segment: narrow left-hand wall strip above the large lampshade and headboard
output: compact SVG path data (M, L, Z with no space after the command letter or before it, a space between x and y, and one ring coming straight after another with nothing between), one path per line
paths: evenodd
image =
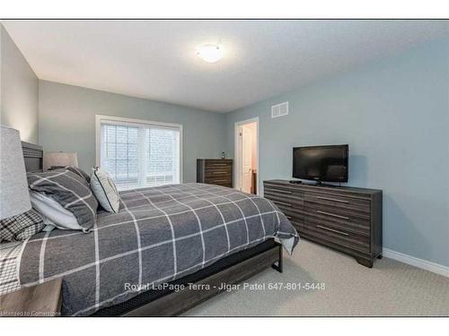
M3 25L1 30L0 124L20 131L22 141L39 142L39 80Z

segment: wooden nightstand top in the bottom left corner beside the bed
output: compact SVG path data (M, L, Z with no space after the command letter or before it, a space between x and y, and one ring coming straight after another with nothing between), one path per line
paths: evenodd
M62 279L23 287L0 297L0 316L59 316L61 314Z

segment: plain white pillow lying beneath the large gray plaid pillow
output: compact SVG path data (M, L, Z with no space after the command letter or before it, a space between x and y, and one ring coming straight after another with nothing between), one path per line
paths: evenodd
M32 207L42 215L44 224L62 229L84 229L78 224L72 212L66 210L60 203L48 195L31 192L30 200Z

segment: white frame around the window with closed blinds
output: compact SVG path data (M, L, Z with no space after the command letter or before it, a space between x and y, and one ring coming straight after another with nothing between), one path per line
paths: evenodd
M163 123L159 121L151 121L144 119L134 119L134 118L126 118L121 116L104 116L104 115L95 115L95 162L96 166L100 167L101 165L101 123L109 123L112 125L153 125L156 127L167 127L167 128L178 128L180 130L180 183L183 183L183 146L182 146L182 124L171 124L171 123Z

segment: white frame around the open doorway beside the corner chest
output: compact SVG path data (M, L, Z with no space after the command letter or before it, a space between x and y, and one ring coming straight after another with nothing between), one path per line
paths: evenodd
M233 171L235 174L233 175L233 185L234 189L240 190L242 187L242 146L240 143L240 134L239 128L242 125L256 123L256 161L257 161L257 177L256 177L256 188L257 194L260 194L260 164L259 164L259 116L245 119L242 121L237 121L233 124Z

